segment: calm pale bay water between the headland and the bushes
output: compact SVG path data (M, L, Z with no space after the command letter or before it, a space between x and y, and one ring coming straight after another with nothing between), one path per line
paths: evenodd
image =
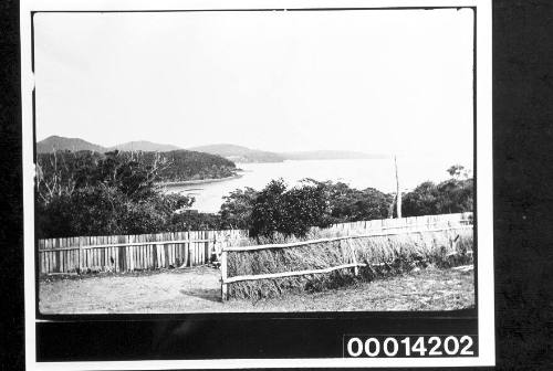
M410 190L426 180L445 180L449 177L446 169L453 163L458 161L444 158L400 159L398 160L400 187ZM390 159L288 160L275 163L237 163L237 167L243 170L241 178L204 184L175 186L168 191L194 195L196 202L192 209L217 212L223 201L222 197L231 191L246 187L260 190L269 181L278 178L283 178L290 186L296 184L301 179L313 178L321 181L342 181L357 189L372 187L383 192L393 192L396 187L394 161Z

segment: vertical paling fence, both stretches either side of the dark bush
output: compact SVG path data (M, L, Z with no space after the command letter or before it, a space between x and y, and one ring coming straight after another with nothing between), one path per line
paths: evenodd
M334 224L325 231L331 234L346 231L351 234L361 234L386 229L410 231L421 227L466 225L471 223L471 218L472 213L458 213L384 219ZM320 230L319 227L311 229L312 232ZM234 245L243 239L248 239L248 231L186 231L142 235L46 239L39 240L40 262L38 264L41 274L191 267L209 263L211 252L221 254L225 246ZM171 243L173 241L176 243ZM90 247L94 245L101 246ZM352 246L348 248L352 250ZM355 251L352 250L348 255L355 263Z

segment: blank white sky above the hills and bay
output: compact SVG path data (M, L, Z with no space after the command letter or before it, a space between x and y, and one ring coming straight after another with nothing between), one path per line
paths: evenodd
M471 10L38 13L36 137L472 157Z

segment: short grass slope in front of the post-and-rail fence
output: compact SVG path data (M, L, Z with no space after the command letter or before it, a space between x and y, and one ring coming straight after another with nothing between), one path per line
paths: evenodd
M425 269L321 292L284 293L259 300L232 299L230 308L247 311L422 311L474 308L473 272Z

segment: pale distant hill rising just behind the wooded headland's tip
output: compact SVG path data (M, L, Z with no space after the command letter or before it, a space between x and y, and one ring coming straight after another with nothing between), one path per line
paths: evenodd
M279 153L228 144L194 147L189 150L219 155L233 162L282 162L285 160Z

